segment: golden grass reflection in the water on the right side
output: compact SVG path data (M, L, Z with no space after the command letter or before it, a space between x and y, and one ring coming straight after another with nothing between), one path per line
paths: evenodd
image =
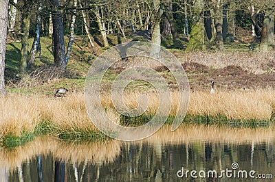
M148 142L183 144L192 142L221 142L243 144L247 142L270 142L275 140L274 127L227 127L224 125L183 124L175 131L164 125L146 139Z

